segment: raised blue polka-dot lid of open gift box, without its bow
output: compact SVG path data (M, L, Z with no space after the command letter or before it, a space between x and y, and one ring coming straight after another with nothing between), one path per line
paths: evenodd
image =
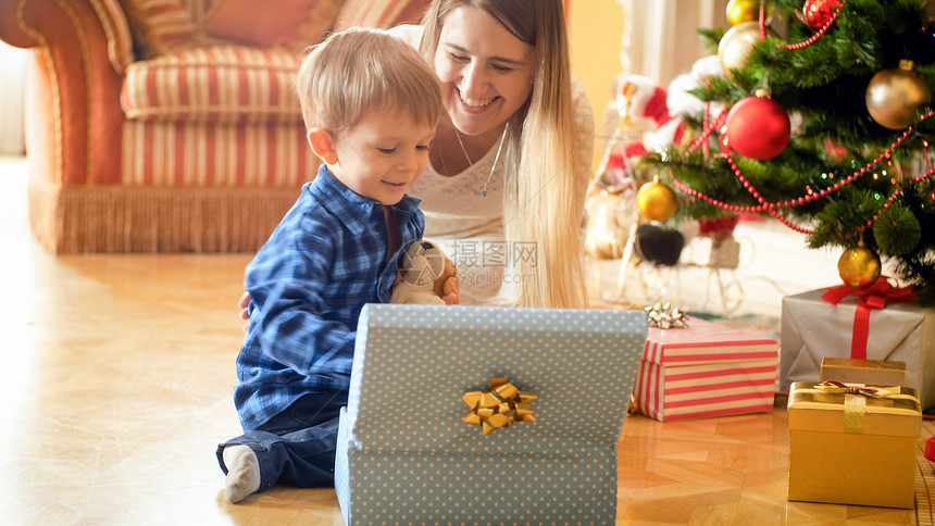
M354 349L350 446L369 451L579 454L615 447L646 340L643 311L367 304ZM503 377L535 422L485 436L465 393Z

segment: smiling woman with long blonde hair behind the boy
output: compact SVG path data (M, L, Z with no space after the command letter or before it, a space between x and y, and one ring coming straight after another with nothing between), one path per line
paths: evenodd
M562 2L436 0L423 27L392 33L442 83L447 113L411 193L460 268L462 303L584 306L594 114Z

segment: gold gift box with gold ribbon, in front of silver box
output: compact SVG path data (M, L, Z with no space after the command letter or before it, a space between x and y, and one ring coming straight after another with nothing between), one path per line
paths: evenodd
M914 508L918 392L872 398L818 386L791 385L789 500Z

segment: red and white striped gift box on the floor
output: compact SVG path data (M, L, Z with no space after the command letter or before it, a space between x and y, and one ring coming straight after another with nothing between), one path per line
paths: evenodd
M650 327L636 376L640 413L661 422L773 409L778 341L696 317Z

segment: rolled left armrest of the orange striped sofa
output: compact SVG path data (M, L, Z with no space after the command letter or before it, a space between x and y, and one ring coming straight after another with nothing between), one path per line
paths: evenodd
M120 89L133 55L115 0L0 0L0 39L35 49L26 149L41 168L32 175L120 183Z

